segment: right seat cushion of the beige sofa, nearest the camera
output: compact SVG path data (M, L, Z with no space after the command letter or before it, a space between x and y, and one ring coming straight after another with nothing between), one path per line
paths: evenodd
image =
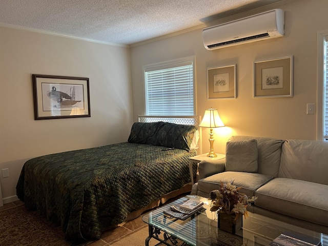
M275 178L260 187L255 206L328 226L327 186L297 179Z

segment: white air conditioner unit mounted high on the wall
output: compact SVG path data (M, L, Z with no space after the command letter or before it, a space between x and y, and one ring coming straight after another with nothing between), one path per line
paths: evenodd
M284 35L284 11L274 9L205 28L202 34L208 50L281 37Z

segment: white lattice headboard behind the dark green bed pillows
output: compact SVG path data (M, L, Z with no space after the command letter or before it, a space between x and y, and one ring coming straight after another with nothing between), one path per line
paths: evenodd
M164 121L180 125L196 126L200 124L200 115L193 116L153 116L153 115L139 115L139 122L157 122Z

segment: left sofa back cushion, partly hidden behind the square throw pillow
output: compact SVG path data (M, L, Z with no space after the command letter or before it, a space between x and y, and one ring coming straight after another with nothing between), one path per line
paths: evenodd
M232 136L231 141L256 139L257 173L278 177L281 145L284 140L270 137Z

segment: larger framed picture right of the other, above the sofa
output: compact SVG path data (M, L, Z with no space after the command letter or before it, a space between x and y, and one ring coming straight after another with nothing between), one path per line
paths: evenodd
M253 97L293 97L293 56L254 62Z

